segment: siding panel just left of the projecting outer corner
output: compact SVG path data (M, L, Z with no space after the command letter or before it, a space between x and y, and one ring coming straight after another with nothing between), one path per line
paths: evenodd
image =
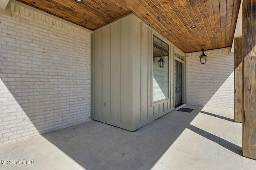
M129 18L121 20L121 123L130 125Z

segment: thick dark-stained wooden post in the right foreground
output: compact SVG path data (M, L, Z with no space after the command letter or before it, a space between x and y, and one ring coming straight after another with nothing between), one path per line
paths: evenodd
M243 1L243 156L256 159L256 0Z

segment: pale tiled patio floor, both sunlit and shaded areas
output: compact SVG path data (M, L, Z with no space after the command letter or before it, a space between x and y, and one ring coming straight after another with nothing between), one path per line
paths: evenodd
M135 132L89 121L0 147L0 169L31 170L252 170L256 160L242 157L242 124L233 111L186 106Z

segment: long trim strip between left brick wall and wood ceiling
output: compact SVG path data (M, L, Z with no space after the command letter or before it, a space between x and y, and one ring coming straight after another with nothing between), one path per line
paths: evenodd
M2 0L0 0L0 1L2 1ZM80 25L76 25L76 24L74 24L74 23L72 23L72 22L70 22L70 21L63 20L62 18L58 18L58 17L56 17L56 16L54 16L54 15L52 15L52 14L48 14L47 12L43 12L43 11L41 11L41 10L38 10L38 9L36 9L36 8L33 8L33 7L31 7L31 6L28 6L28 5L26 5L26 4L23 4L23 3L21 3L21 2L18 2L18 1L16 1L16 0L11 0L10 2L13 3L13 4L17 4L17 5L19 5L19 6L22 6L22 7L24 7L24 8L27 8L27 9L29 9L29 10L33 10L34 12L38 12L38 13L40 13L40 14L43 14L43 15L48 16L48 17L50 17L50 18L53 18L53 19L55 19L55 20L62 21L63 23L72 25L72 26L74 26L74 27L77 27L77 28L82 29L82 30L84 30L84 31L87 31L87 32L89 32L89 33L92 33L92 30L90 30L90 29L87 29L87 28L82 27L82 26L80 26Z

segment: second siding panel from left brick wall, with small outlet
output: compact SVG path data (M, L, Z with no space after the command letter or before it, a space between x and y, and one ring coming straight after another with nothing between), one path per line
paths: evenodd
M110 119L110 26L102 28L102 105L102 118Z

